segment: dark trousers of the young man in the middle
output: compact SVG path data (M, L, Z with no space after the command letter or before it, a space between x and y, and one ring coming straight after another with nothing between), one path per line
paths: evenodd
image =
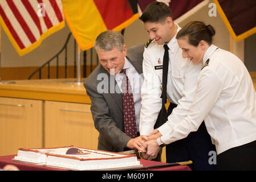
M170 115L176 106L171 103L167 115ZM166 162L192 160L193 164L188 165L192 170L212 171L216 169L216 164L209 163L209 158L212 156L210 155L212 153L209 154L210 151L216 152L216 147L212 144L205 123L202 122L198 130L190 133L188 137L166 145Z

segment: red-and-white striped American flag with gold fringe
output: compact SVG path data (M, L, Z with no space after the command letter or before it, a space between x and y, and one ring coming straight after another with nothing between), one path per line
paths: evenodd
M1 0L0 23L19 55L64 27L61 0Z

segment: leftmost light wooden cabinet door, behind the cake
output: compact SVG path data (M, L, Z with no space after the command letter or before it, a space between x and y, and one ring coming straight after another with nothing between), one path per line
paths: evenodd
M0 97L0 155L43 146L43 101Z

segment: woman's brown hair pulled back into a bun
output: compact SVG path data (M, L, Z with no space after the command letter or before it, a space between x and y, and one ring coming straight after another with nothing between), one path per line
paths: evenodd
M207 26L203 22L193 21L181 28L176 35L176 39L188 37L189 44L198 46L201 40L204 40L209 44L212 44L212 37L215 35L213 26L208 24Z

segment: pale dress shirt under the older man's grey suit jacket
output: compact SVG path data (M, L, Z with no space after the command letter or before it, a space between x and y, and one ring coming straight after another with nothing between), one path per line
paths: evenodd
M137 132L139 132L140 108L141 108L140 93L141 93L141 85L143 84L143 77L139 75L139 73L136 71L136 69L133 67L133 65L130 63L130 61L126 57L124 60L123 69L126 69L126 75L128 76L129 82L131 83L134 109L135 109L136 127L137 127ZM115 76L115 80L121 92L122 92L121 84L122 84L123 77L124 77L124 74L120 74L120 72L117 73Z

